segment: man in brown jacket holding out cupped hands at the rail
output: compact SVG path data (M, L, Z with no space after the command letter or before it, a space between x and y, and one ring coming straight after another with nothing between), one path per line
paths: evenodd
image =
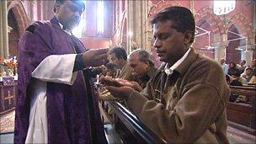
M168 143L229 143L226 106L230 89L221 66L196 53L195 19L187 8L171 7L152 19L154 47L163 65L147 88L107 86ZM114 80L113 80L114 81Z

